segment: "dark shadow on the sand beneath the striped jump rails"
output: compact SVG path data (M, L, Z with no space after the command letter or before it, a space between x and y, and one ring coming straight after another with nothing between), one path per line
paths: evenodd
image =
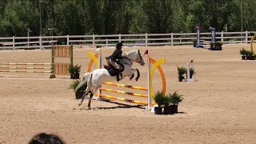
M114 103L118 106L111 106L111 107L98 107L98 109L103 109L103 110L108 110L108 109L130 109L130 108L138 108L138 109L145 109L142 105L136 105L136 106L130 106L130 105L127 105L127 104L124 104L124 103L120 103L120 102L114 102L114 101L111 101L110 99L102 99L101 101L103 102L110 102L110 103Z

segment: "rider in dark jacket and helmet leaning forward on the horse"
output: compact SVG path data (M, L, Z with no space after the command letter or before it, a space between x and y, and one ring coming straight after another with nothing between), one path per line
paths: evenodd
M116 44L116 49L114 50L113 54L111 54L109 57L106 57L106 62L109 66L114 66L114 68L117 70L117 81L120 81L119 75L122 74L120 73L121 67L118 66L117 64L117 59L122 58L122 42L118 42Z

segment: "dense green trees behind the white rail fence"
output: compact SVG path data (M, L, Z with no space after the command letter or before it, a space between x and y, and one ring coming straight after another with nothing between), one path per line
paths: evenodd
M255 0L1 0L0 37L40 35L40 15L42 35L256 30Z

